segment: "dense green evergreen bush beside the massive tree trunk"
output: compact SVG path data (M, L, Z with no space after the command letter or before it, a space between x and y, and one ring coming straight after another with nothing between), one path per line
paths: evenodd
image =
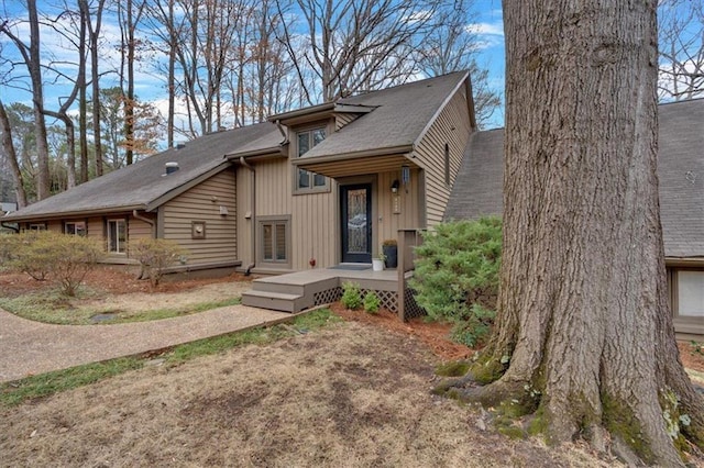
M470 346L488 334L496 308L502 222L498 218L442 223L416 247L410 287L435 320L454 323L453 339Z

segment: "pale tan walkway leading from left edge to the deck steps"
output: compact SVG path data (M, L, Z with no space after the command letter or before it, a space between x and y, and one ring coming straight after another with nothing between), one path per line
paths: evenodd
M131 356L290 317L232 305L193 315L116 325L50 325L0 309L0 382Z

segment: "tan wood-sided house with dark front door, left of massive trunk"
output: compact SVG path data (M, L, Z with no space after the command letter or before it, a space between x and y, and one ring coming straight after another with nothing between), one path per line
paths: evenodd
M454 73L206 135L0 221L101 237L113 263L158 237L188 250L184 269L370 264L398 230L442 220L474 127Z

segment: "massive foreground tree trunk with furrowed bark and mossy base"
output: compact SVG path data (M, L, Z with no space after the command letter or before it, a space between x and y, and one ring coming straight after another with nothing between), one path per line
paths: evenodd
M680 465L663 414L688 414L675 435L698 447L704 420L667 301L656 1L506 1L504 21L502 283L480 359L501 378L459 393L520 401L553 442L605 427L644 461Z

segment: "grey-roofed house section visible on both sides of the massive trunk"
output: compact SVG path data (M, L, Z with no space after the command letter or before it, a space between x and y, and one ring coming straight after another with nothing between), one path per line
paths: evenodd
M658 109L660 215L680 336L704 334L704 99ZM471 136L444 218L503 212L504 130Z

